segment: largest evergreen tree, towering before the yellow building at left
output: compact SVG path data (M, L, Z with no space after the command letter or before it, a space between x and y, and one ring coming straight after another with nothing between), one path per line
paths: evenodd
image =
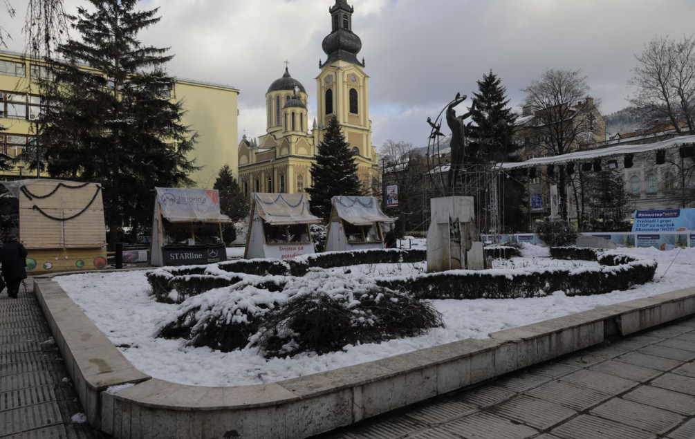
M174 78L163 67L172 56L138 41L159 21L157 9L88 1L94 12L80 7L70 17L79 40L61 44L65 61L51 64L39 139L51 176L101 183L115 239L122 226L149 225L155 186L193 184L188 174L198 168L186 155L196 135L181 124L181 102L170 100Z

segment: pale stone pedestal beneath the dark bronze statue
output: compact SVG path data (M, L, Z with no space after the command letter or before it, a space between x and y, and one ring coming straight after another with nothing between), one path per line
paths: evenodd
M482 242L473 222L473 206L473 197L430 199L427 272L485 269Z

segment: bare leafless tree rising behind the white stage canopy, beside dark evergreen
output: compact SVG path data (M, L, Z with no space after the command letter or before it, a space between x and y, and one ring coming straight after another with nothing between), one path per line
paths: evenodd
M535 110L534 117L521 135L530 139L529 147L543 156L559 156L595 142L596 108L589 94L586 76L580 70L548 69L525 92L525 105ZM555 179L562 219L567 219L567 174L559 166Z

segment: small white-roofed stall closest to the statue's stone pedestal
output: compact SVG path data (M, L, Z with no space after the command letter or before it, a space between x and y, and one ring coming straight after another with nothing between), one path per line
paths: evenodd
M381 249L382 224L398 218L386 216L374 197L333 197L326 251Z

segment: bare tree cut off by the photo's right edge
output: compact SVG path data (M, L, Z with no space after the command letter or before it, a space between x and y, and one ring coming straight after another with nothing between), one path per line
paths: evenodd
M685 121L695 133L695 35L680 40L654 38L635 56L630 103L650 117L668 119L682 133Z

